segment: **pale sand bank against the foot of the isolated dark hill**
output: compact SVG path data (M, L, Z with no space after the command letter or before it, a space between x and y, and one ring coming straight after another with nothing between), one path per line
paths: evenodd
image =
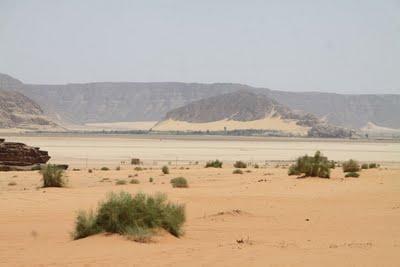
M231 130L270 130L287 132L293 135L306 136L309 127L296 124L295 120L283 120L281 118L266 117L253 121L220 120L205 123L194 123L187 121L176 121L168 119L156 124L152 129L155 131L228 131Z

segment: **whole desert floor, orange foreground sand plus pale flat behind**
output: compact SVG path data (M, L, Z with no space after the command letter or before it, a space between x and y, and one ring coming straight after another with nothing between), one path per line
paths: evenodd
M38 171L0 173L2 266L396 266L400 260L398 143L307 141L304 147L309 150L325 144L326 155L337 160L348 159L350 149L359 151L354 158L360 162L370 154L380 158L381 165L362 170L359 178L345 178L336 167L330 179L296 179L288 176L288 164L304 153L290 150L291 142L177 137L160 143L98 136L8 136L7 140L45 147L53 155L50 163L70 166L65 188L42 188ZM135 142L136 147L130 146ZM243 151L243 142L249 147L255 143L256 152L262 149L260 143L284 152L275 154L265 148L253 155L251 148ZM107 146L94 145L101 143ZM130 144L130 153L123 155L122 143ZM176 154L169 146L177 148ZM209 149L200 151L196 159L190 150L197 146L229 153ZM94 151L86 154L88 163L76 153L78 147ZM132 155L145 157L140 169L121 160ZM223 161L222 168L204 168L207 160L215 158ZM233 174L235 160L259 167L248 166L243 174ZM169 167L169 174L162 173L163 165ZM109 170L101 170L104 166ZM188 188L170 185L171 178L180 176L188 180ZM139 184L130 184L130 177ZM118 185L119 180L127 183ZM95 209L109 192L122 190L163 192L171 201L184 204L183 236L160 233L152 242L140 243L101 233L72 240L77 212Z

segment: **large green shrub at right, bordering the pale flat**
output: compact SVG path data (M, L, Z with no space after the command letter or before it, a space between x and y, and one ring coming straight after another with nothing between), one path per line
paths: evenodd
M330 177L330 163L327 157L324 157L320 151L315 152L314 156L299 157L296 162L289 167L289 175L301 175L305 177Z

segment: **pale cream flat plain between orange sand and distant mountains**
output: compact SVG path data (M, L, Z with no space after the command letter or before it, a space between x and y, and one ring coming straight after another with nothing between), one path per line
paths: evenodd
M168 162L205 162L210 159L286 161L321 150L333 160L354 158L360 161L400 162L399 142L356 142L349 140L284 139L211 136L140 135L47 135L3 136L7 141L23 142L49 151L53 163L76 167L117 166L137 157L158 166Z

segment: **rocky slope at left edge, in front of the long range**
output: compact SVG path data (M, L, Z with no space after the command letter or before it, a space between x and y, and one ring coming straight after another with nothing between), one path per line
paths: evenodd
M0 128L37 128L55 126L40 106L18 92L0 89Z

